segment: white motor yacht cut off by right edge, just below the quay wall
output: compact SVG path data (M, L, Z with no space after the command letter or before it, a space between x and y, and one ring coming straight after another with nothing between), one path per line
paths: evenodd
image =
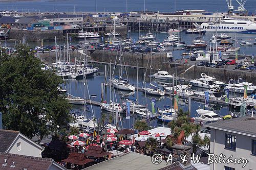
M256 86L252 83L242 82L238 84L228 84L225 89L229 89L230 92L244 93L244 86L247 85L247 94L251 94L256 90Z

